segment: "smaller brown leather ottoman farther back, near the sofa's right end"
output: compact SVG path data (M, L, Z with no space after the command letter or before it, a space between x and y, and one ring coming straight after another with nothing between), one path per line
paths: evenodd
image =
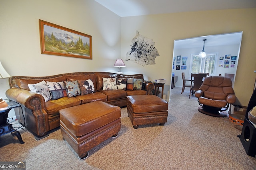
M138 125L167 122L168 103L155 95L127 96L127 112L135 129Z

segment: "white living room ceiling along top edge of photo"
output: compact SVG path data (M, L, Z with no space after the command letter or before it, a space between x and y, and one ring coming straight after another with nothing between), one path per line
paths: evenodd
M120 17L256 8L256 0L95 0Z

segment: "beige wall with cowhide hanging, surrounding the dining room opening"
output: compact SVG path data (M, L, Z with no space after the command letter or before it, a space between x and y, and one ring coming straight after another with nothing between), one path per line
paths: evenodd
M169 100L172 55L175 39L243 31L234 91L237 103L247 106L256 74L256 9L214 10L122 18L121 57L126 58L136 30L155 42L160 54L155 65L140 66L126 61L126 70L148 75L149 80L166 78L164 98Z

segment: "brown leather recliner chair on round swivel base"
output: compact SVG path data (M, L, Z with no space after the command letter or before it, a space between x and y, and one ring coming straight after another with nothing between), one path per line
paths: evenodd
M222 111L236 102L231 79L222 76L206 77L195 96L200 105L198 111L215 117L225 117L227 114Z

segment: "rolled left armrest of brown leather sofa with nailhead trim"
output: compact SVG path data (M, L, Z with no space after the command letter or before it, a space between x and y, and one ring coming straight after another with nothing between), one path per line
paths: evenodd
M6 97L25 107L24 117L29 129L38 136L46 135L50 130L50 125L45 100L42 95L20 88L10 88L6 91Z

